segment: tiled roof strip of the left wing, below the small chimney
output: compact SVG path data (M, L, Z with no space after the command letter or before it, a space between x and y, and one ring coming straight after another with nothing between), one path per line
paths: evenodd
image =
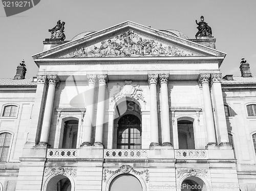
M33 78L13 80L13 79L0 79L0 86L36 86Z

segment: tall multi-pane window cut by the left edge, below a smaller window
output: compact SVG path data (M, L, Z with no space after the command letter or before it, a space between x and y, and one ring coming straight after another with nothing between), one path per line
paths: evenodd
M11 134L10 133L2 133L0 134L0 161L7 161L9 148L11 144Z

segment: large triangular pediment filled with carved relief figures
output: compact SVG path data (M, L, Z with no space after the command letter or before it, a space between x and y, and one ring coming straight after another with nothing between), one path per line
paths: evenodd
M126 21L34 55L33 58L225 56L195 42Z

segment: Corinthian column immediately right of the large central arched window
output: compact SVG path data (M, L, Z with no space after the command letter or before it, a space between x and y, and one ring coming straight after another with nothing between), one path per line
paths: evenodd
M159 146L157 117L157 81L158 74L148 74L148 84L150 86L150 146Z

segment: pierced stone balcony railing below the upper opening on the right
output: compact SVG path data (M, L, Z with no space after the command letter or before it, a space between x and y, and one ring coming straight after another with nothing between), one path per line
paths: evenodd
M176 159L208 159L206 149L202 150L175 150Z

